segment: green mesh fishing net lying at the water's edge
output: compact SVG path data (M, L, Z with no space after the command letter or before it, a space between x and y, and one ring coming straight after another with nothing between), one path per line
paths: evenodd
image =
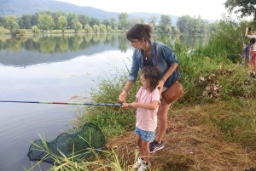
M55 140L35 140L29 147L27 156L31 161L53 163L60 157L90 157L101 151L106 144L102 131L93 123L85 123L82 130L73 134L62 133Z

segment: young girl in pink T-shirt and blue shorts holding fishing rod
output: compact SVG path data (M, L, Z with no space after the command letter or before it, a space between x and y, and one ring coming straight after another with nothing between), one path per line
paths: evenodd
M141 72L141 87L136 94L136 101L131 104L124 103L123 108L137 109L136 117L136 143L141 157L133 168L139 171L150 168L149 143L154 140L157 127L157 111L160 105L160 91L157 87L160 81L160 71L153 66L145 66Z

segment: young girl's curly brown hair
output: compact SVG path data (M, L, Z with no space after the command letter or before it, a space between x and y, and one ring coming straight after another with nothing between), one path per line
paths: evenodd
M160 71L153 66L145 66L141 74L149 81L150 91L153 91L160 81Z

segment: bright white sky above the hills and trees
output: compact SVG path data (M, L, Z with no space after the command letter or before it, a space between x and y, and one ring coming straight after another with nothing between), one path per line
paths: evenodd
M224 8L226 0L59 0L79 6L90 6L109 12L148 12L220 20L227 12Z

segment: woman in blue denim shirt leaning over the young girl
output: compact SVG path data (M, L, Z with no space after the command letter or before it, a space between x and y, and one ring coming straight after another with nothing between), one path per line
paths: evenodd
M160 93L166 90L166 88L169 88L172 83L180 77L180 74L176 70L178 62L176 54L174 54L172 48L169 48L166 44L151 41L151 33L151 27L143 24L132 26L131 29L126 32L126 38L130 41L131 46L135 48L135 50L132 57L130 76L128 77L128 81L122 93L119 94L119 100L121 102L125 102L131 86L137 80L139 69L142 70L144 66L159 66L161 79L156 88L160 89ZM155 60L155 54L157 54L158 60ZM163 100L161 101L158 111L158 118L160 120L159 133L157 138L149 145L150 153L164 148L162 139L166 133L167 113L170 106L171 104L168 105Z

